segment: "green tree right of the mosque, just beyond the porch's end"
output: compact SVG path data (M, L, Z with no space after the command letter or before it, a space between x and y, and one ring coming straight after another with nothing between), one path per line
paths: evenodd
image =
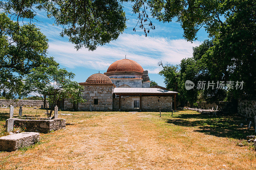
M225 89L217 89L216 84L214 88L208 88L208 82L217 82L218 77L211 76L209 68L202 59L203 55L213 46L212 41L205 40L198 47L193 48L193 57L184 58L181 60L179 65L173 66L171 64L159 63L163 67L163 70L159 72L160 75L164 76L164 82L167 88L173 91L179 92L177 100L184 106L187 101L192 105L200 100L207 101L209 103L220 104L227 96ZM190 80L195 83L195 87L190 90L186 90L185 82ZM205 82L204 88L197 88L197 83L200 81Z

